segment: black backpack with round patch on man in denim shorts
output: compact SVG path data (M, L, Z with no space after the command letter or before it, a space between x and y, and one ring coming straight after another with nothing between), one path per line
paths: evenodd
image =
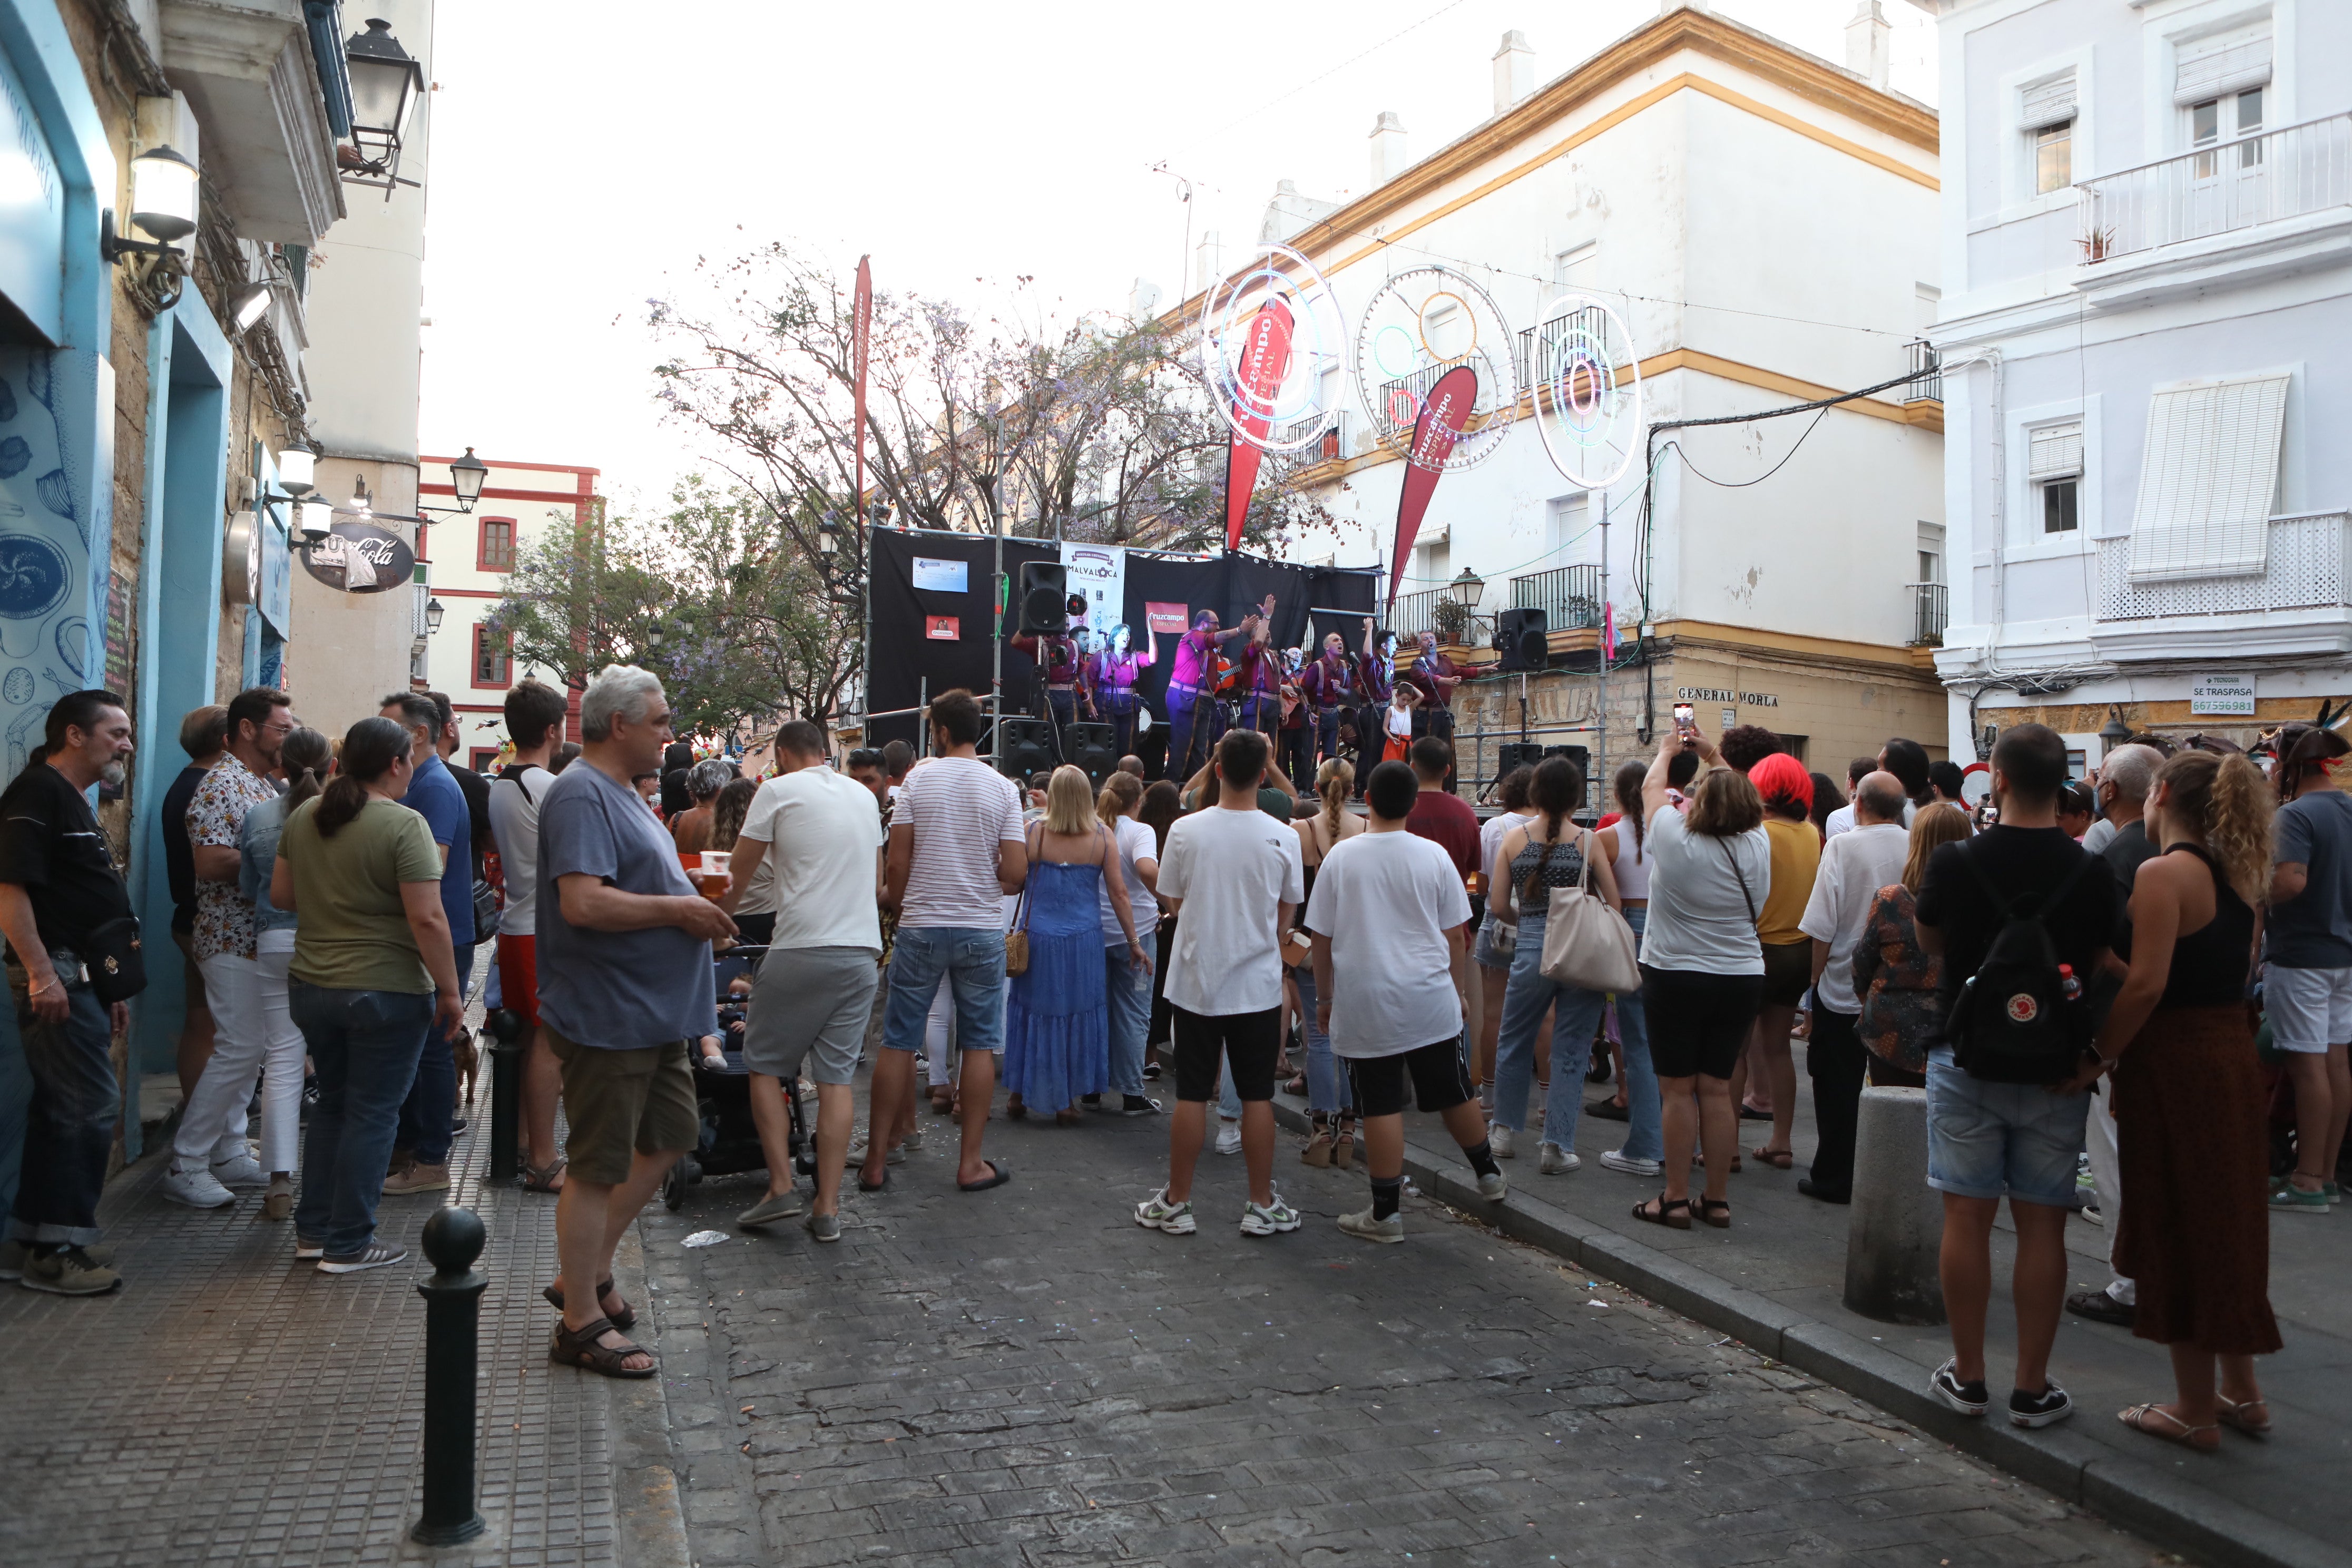
M2103 867L2105 860L2084 853L2049 896L2025 893L2011 903L1992 886L1992 877L1969 849L1962 849L1959 858L1985 889L2002 929L1952 1004L1952 1018L1945 1023L1952 1060L1987 1084L2058 1084L2082 1065L2082 1053L2105 1011L2098 999L2107 987L2096 985L2093 976L2074 976L2082 990L2077 997L2065 994L2058 947L2042 919L2065 903L2084 870ZM2025 903L2032 905L2030 912L2018 907Z

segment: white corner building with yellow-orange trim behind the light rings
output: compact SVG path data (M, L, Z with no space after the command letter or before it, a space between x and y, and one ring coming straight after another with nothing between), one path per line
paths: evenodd
M1538 85L1529 40L1510 33L1491 120L1416 160L1381 115L1367 195L1334 209L1284 188L1265 237L1315 261L1350 331L1390 277L1425 263L1486 289L1512 336L1566 292L1595 296L1630 327L1646 421L1884 383L1905 374L1936 301L1938 132L1931 108L1886 89L1872 7L1853 45L1858 68L1842 68L1670 9ZM1343 404L1329 461L1305 475L1341 536L1294 555L1385 569L1406 465L1371 440L1352 390ZM1529 682L1529 738L1597 745L1606 545L1623 639L1609 762L1670 724L1677 701L1710 729L1766 724L1830 773L1898 733L1940 752L1936 625L1915 588L1943 576L1940 409L1898 386L1813 421L1661 435L1644 538L1639 454L1606 494L1578 489L1522 400L1491 458L1439 480L1397 625L1430 623L1465 569L1484 581L1482 618L1545 609L1566 672ZM1496 741L1517 738L1519 682L1470 682L1456 722L1486 731L1463 752L1468 773L1489 771Z

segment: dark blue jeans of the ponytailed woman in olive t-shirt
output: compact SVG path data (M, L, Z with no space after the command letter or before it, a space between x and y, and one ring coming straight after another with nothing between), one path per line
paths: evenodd
M294 1234L322 1241L329 1258L348 1258L376 1234L383 1166L433 1027L433 992L346 992L292 980L287 1009L318 1067Z

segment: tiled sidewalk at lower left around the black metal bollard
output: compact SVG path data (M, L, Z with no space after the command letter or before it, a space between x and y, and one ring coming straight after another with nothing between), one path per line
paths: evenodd
M489 1535L440 1554L485 1568L663 1561L666 1465L616 1512L602 1378L546 1359L555 1199L485 1187L489 1067L452 1154L452 1192L383 1199L379 1234L412 1260L327 1276L294 1262L294 1225L261 1197L195 1211L158 1194L167 1150L106 1192L125 1288L64 1300L0 1286L0 1563L393 1563L419 1495L423 1321L419 1248L437 1199L482 1215L475 1455ZM644 1549L652 1535L654 1549ZM675 1540L675 1509L668 1535ZM670 1561L682 1561L675 1549Z

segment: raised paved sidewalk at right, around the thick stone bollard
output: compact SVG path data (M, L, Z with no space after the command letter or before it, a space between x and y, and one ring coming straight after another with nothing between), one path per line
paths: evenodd
M2171 1361L2161 1345L2129 1328L2072 1314L2058 1331L2051 1375L2074 1396L2077 1415L2046 1432L1969 1422L1926 1396L1929 1373L1952 1349L1943 1328L1877 1324L1844 1307L1849 1211L1797 1192L1813 1152L1804 1041L1797 1041L1797 1166L1773 1171L1748 1159L1731 1178L1736 1220L1729 1232L1675 1232L1635 1220L1632 1204L1658 1192L1658 1178L1602 1168L1599 1154L1623 1143L1625 1124L1590 1117L1578 1121L1576 1138L1583 1168L1566 1175L1536 1175L1536 1133L1519 1138L1522 1157L1505 1161L1515 1187L1501 1215L1505 1232L1736 1333L2180 1552L2230 1563L2352 1563L2343 1547L2343 1483L2352 1474L2352 1298L2345 1293L2352 1218L2345 1211L2270 1220L2270 1300L2286 1349L2263 1359L2258 1375L2277 1436L2225 1434L2220 1453L2192 1455L2126 1429L2117 1410L2171 1399ZM1609 1086L1588 1084L1583 1093L1590 1105L1609 1095ZM1287 1121L1303 1126L1296 1110L1303 1100L1277 1095L1277 1105L1287 1107ZM1743 1147L1764 1143L1766 1133L1769 1124L1740 1124ZM1425 1173L1432 1192L1456 1201L1475 1197L1458 1180L1461 1157L1435 1119L1411 1117L1406 1135L1409 1168ZM2009 1387L2004 1375L2016 1347L2006 1227L2004 1208L1990 1324L1994 1389ZM2107 1284L2105 1229L2077 1218L2067 1225L2067 1248L2074 1258L2070 1288Z

